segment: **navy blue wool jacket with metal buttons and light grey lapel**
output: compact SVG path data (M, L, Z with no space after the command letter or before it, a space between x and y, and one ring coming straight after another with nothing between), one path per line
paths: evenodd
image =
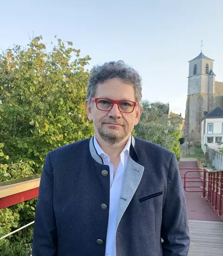
M109 167L92 138L49 152L41 175L32 256L105 256L109 182ZM134 137L115 248L116 256L187 256L189 251L187 208L176 157Z

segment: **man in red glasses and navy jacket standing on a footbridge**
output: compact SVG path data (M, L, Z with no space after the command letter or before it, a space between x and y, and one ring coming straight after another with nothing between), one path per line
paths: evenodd
M85 106L95 135L47 154L33 256L188 255L176 157L131 136L141 91L140 76L122 61L93 68Z

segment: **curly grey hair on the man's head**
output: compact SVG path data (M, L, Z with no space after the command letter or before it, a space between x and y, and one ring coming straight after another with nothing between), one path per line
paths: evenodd
M90 103L94 97L99 83L105 83L112 78L120 78L128 84L132 84L135 90L135 100L141 103L142 100L142 81L138 72L127 66L125 62L105 62L103 65L94 66L89 78L87 100Z

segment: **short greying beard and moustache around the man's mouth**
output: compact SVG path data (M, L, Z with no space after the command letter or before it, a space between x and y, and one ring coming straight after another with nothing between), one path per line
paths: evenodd
M110 133L109 131L106 131L105 129L103 129L103 124L107 124L107 123L114 123L117 125L122 125L123 130L116 134ZM115 144L122 142L126 137L128 137L128 135L130 133L130 131L128 131L129 130L128 126L115 118L103 119L100 121L99 125L95 125L95 127L98 131L98 134L104 140L104 142L106 142L110 145L115 145ZM110 129L115 130L117 128L111 126Z

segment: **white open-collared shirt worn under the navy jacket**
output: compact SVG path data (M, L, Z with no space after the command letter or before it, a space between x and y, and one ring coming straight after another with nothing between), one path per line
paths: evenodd
M105 256L115 256L116 255L115 253L116 219L117 219L119 199L120 199L121 190L122 190L122 180L125 174L128 157L129 157L131 136L128 139L126 146L124 147L124 149L120 154L121 161L116 170L115 177L114 177L114 166L110 163L110 158L108 157L108 155L105 154L101 149L101 147L99 146L95 136L94 136L94 145L97 153L103 159L104 165L108 165L110 170L110 203L109 203L108 231L107 231L107 239L106 239Z

